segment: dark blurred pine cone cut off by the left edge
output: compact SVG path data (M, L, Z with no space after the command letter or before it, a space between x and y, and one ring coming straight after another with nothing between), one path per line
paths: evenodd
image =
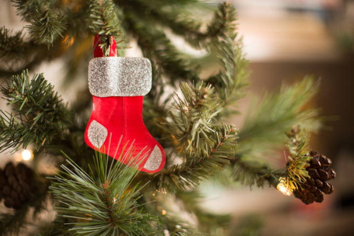
M19 209L28 201L32 177L33 171L22 163L15 167L9 162L4 171L0 169L0 200L5 198L6 207Z

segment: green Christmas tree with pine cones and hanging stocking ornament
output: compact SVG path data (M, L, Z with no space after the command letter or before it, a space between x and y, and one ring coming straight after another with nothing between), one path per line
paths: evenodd
M1 92L12 108L0 116L0 149L15 153L31 147L33 159L31 168L8 163L1 171L0 197L13 208L0 215L1 234L23 231L29 218L48 210L50 202L56 216L49 224L35 225L39 235L200 235L220 234L220 228L228 235L230 217L206 212L197 204L202 198L199 183L215 176L249 186L269 185L286 195L294 192L306 204L321 202L323 193L333 192L326 182L335 176L327 168L330 160L308 147L308 133L321 127L318 110L305 106L318 92L318 81L305 77L284 84L255 99L242 127L229 124L248 92L247 60L231 4L215 9L199 0L13 4L28 26L26 33L6 26L0 30ZM196 59L179 50L171 41L176 35L205 55ZM87 123L92 123L93 96L94 109L101 106L92 93L99 82L90 82L90 90L77 89L77 99L67 104L36 68L64 58L63 83L74 86L82 74L87 78L93 45L95 59L106 60L124 56L131 41L152 68L151 91L144 93L144 123L112 125L115 131L104 125L104 140L94 140L102 132L90 136ZM100 67L96 72L101 73ZM134 92L143 96L136 90L127 97L137 96ZM124 104L128 111L136 103ZM155 159L146 164L155 146L137 152L144 146L133 142L139 138L161 146L158 166ZM283 149L288 164L272 165L269 156L274 160ZM57 170L43 171L40 166L48 162ZM181 212L194 220L186 220Z

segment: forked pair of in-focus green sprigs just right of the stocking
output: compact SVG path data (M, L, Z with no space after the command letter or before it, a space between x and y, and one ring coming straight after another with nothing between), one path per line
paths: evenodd
M237 130L215 123L223 102L210 86L181 84L183 98L176 96L161 129L184 162L173 164L156 175L156 185L168 192L196 186L222 169L234 155Z

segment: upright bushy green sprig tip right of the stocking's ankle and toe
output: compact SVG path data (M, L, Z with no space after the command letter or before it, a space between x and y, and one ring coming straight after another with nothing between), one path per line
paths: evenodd
M166 132L179 140L182 146L178 148L184 152L194 152L196 156L207 154L214 145L214 140L209 139L213 133L209 126L221 111L222 102L210 85L201 83L191 87L182 83L180 88L184 99L176 95L173 109L177 113L169 112L172 122L168 122ZM206 142L206 147L201 140Z

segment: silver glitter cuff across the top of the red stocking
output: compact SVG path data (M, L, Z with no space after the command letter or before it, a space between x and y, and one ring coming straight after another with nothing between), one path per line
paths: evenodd
M96 97L144 96L151 89L147 58L99 57L89 63L89 89Z

